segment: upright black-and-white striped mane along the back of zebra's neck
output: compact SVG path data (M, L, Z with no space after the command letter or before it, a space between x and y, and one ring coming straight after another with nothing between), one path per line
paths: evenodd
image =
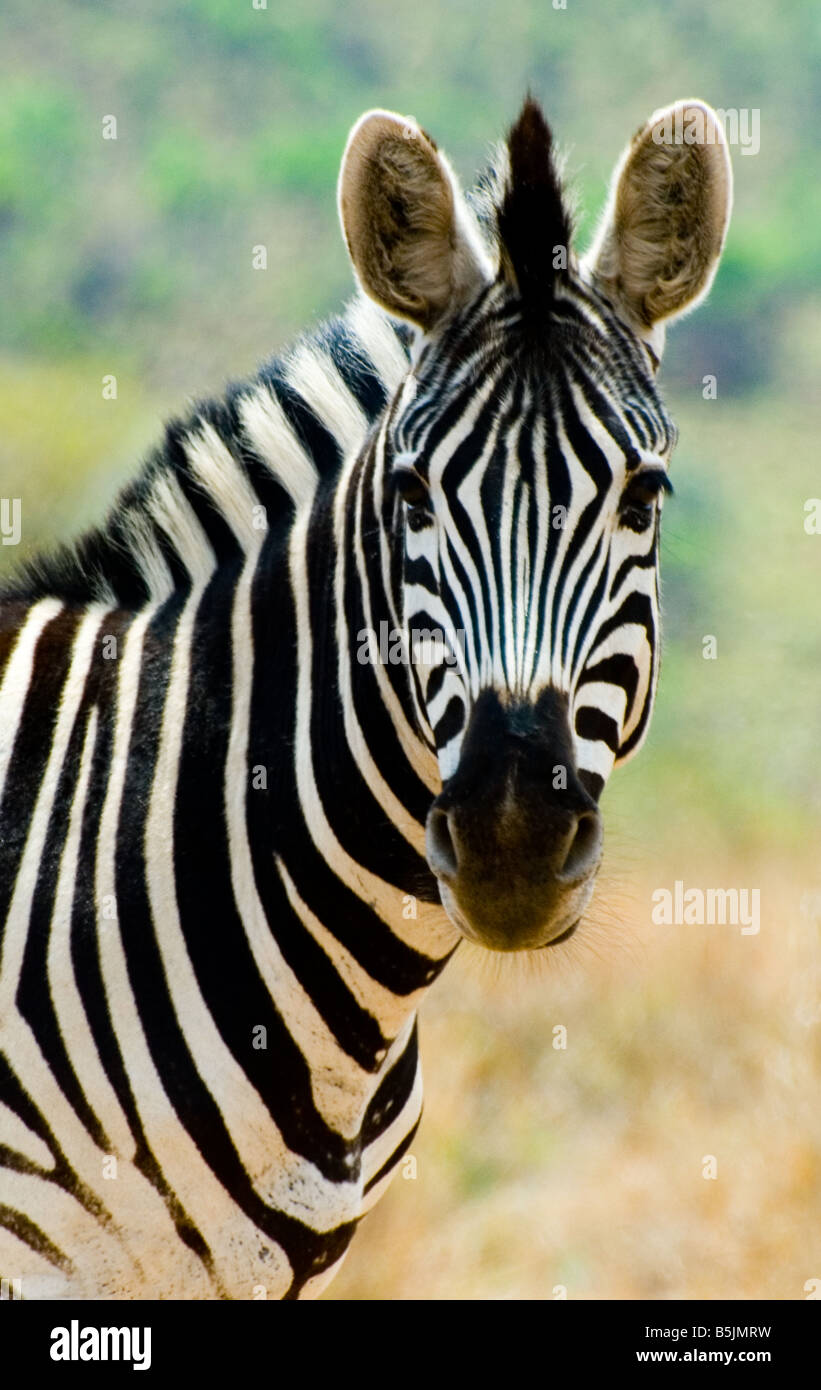
M408 336L357 299L221 399L194 402L103 524L25 560L0 598L139 609L186 587L203 546L218 563L243 531L286 531L361 445L407 368Z

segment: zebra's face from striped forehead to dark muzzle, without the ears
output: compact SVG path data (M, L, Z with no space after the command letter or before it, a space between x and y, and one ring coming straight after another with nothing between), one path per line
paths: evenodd
M401 612L443 783L428 860L483 944L564 938L589 902L599 794L653 705L672 443L646 348L581 284L543 336L489 288L397 400Z

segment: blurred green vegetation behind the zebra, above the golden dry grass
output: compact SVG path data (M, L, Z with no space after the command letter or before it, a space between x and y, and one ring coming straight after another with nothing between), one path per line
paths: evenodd
M335 185L368 106L411 111L471 182L532 89L582 242L652 110L688 95L757 110L714 291L670 334L663 677L649 751L607 801L625 853L647 833L749 853L817 842L821 538L803 503L821 492L820 60L818 13L764 0L56 0L47 22L7 0L0 480L24 499L24 545L0 566L99 517L188 395L347 296Z

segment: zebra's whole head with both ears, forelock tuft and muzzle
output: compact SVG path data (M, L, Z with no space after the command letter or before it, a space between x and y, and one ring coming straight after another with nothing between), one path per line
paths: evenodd
M354 270L413 325L376 477L442 778L426 856L453 923L495 949L575 929L602 788L647 730L675 441L656 371L667 321L710 288L731 186L715 114L657 111L577 257L535 101L467 197L413 120L371 111L349 139Z

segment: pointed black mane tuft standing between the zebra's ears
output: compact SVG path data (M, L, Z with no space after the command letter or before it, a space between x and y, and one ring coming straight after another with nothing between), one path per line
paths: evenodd
M501 264L522 306L546 314L561 270L554 247L570 254L572 221L553 160L553 135L542 107L528 96L507 136L510 175L497 210Z

